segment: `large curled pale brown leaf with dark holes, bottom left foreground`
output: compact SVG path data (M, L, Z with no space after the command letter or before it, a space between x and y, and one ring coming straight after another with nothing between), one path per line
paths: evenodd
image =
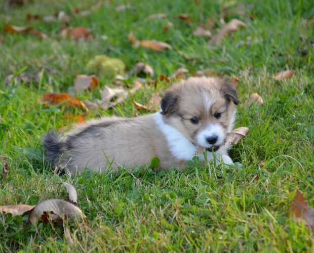
M74 204L61 199L48 199L37 204L31 211L28 221L37 224L38 221L62 222L63 219L85 217L82 210Z

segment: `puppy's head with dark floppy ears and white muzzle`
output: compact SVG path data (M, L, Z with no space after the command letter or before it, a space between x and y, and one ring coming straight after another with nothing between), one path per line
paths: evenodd
M191 77L167 90L161 102L164 121L194 145L212 148L232 130L238 93L231 81Z

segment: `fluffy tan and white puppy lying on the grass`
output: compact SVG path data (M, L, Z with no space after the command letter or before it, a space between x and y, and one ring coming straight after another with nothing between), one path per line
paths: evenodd
M47 157L70 173L118 167L134 168L160 159L159 168L180 168L193 156L230 164L224 144L233 128L237 91L221 78L191 77L167 90L161 111L135 118L92 120L69 132L64 140L44 138ZM214 154L215 153L215 154Z

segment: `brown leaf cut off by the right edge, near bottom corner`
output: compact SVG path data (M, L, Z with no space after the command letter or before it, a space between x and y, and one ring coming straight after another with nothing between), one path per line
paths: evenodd
M299 189L296 189L295 197L292 200L289 214L294 216L296 221L304 220L306 227L314 230L314 209L308 205Z

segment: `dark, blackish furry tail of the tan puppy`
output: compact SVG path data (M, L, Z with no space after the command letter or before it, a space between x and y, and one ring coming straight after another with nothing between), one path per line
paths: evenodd
M43 145L46 149L48 160L55 167L60 163L61 156L66 151L65 143L60 142L55 132L49 132L43 139Z

